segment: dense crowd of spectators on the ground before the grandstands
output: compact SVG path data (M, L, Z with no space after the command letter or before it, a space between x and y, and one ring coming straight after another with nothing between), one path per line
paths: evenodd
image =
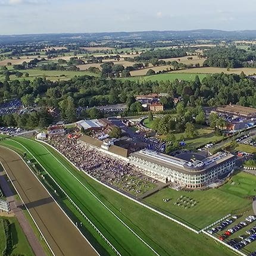
M152 189L156 181L139 172L138 168L124 160L112 157L91 145L68 138L53 136L49 143L67 157L80 170L101 182L115 186L133 195Z

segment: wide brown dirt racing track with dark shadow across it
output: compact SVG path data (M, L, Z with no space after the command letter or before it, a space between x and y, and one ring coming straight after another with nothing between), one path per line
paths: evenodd
M0 161L56 256L98 255L18 154L0 146Z

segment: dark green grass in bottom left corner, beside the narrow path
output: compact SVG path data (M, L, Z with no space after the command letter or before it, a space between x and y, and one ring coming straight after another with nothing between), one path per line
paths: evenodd
M2 218L0 219L2 220ZM11 251L10 256L14 255L26 255L26 256L33 256L34 253L30 248L29 242L27 241L26 236L23 233L23 230L18 223L17 218L10 217L8 218L10 221L10 233L11 233L11 241L13 244L13 249ZM3 229L2 221L0 221L0 253L2 255L2 251L6 245L6 237L5 232Z

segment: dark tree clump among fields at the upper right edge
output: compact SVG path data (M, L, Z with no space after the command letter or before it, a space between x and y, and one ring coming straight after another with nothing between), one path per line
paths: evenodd
M205 67L239 68L249 67L256 60L255 54L248 53L244 49L232 47L217 47L205 51L207 60Z

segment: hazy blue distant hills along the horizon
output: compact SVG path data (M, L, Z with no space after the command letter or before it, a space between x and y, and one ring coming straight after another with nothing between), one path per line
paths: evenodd
M35 42L90 42L95 40L251 40L256 39L256 30L183 30L183 31L143 31L143 32L113 32L113 33L61 33L38 35L0 35L0 43L35 43Z

